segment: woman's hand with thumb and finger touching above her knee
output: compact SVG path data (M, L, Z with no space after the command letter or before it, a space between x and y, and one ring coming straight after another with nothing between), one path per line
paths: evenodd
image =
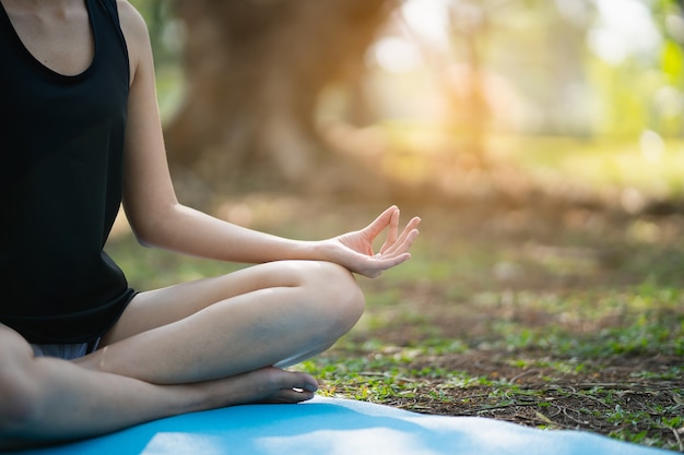
M364 229L325 241L331 260L350 271L375 278L411 258L409 249L418 235L421 218L412 218L399 234L399 208L391 206ZM375 253L374 240L387 229L387 239Z

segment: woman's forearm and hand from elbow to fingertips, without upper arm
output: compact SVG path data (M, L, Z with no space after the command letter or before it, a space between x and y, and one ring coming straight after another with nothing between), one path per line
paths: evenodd
M140 213L142 212L142 213ZM363 229L331 239L305 241L247 229L173 203L154 214L139 211L131 227L141 243L200 258L245 264L284 260L327 261L368 277L376 277L411 255L418 235L418 217L399 230L399 208L391 206ZM387 232L375 252L374 241Z

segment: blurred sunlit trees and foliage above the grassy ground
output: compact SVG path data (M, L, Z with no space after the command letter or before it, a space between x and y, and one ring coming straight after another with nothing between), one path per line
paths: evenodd
M134 0L186 202L673 211L676 0Z

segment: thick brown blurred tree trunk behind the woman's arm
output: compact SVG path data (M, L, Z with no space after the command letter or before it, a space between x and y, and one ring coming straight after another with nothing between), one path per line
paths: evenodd
M358 77L392 0L177 0L186 96L166 127L172 167L214 188L306 187L333 159L321 89Z

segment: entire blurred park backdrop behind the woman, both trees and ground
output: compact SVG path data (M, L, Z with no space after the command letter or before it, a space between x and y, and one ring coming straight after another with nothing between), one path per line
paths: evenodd
M681 2L131 1L184 203L305 239L423 218L300 366L325 393L684 452ZM241 266L110 247L138 289Z

